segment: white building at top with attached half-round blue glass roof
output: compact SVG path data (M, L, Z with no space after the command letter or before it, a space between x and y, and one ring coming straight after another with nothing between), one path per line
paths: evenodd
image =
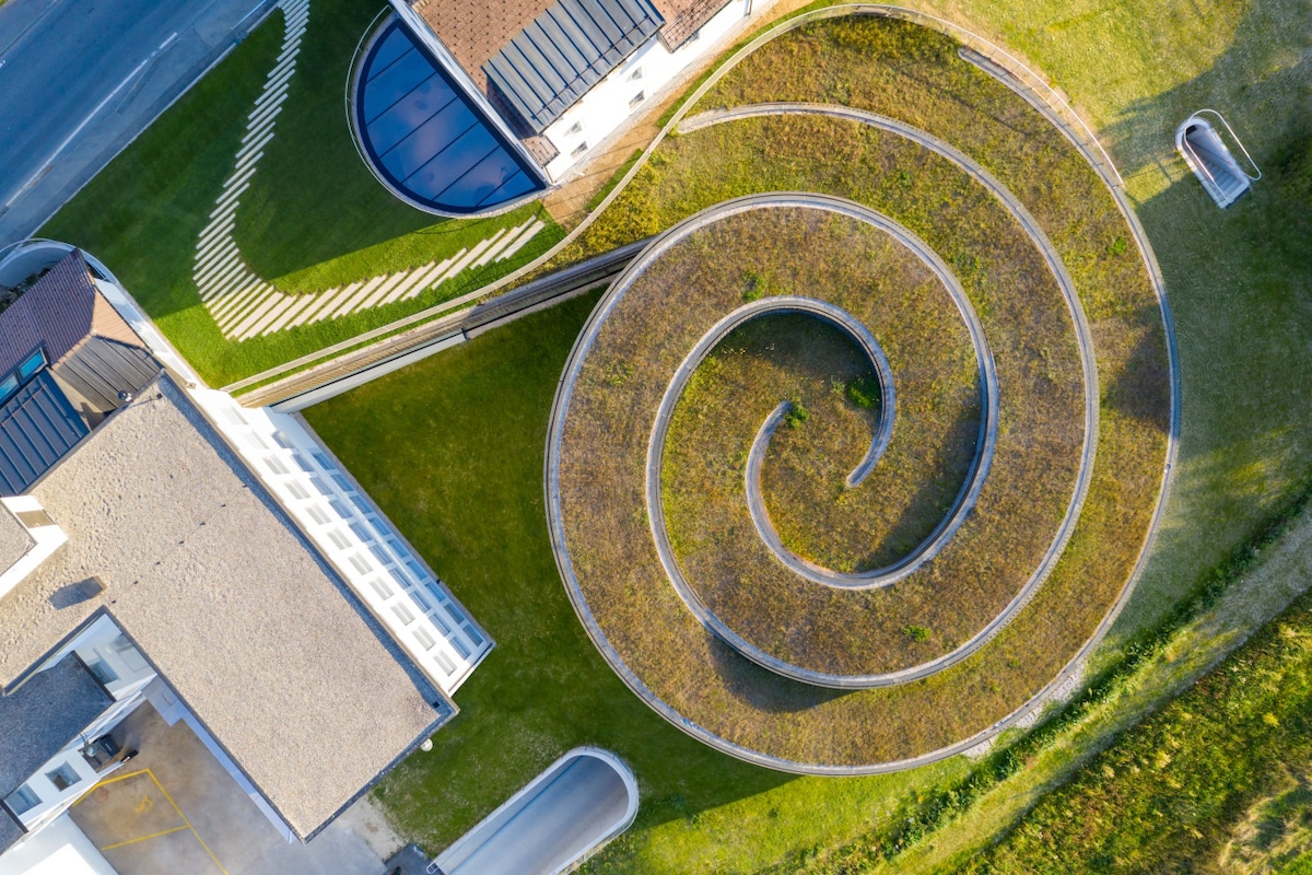
M752 14L752 0L391 0L353 126L398 197L438 214L539 195Z

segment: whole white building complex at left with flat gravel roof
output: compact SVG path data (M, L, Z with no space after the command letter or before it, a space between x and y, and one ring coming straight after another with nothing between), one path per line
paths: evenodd
M76 249L10 254L0 283L16 258L0 855L67 828L147 702L308 841L454 716L491 639L303 421L205 388Z

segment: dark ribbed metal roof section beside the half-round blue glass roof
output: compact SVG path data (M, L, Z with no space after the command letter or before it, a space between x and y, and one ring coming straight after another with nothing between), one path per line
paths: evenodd
M483 66L541 134L655 34L664 18L648 0L558 0Z

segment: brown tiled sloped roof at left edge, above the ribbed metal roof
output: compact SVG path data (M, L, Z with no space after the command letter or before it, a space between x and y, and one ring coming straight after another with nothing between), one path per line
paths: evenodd
M81 252L73 249L0 314L0 376L41 344L56 365L91 336L142 345L96 289Z

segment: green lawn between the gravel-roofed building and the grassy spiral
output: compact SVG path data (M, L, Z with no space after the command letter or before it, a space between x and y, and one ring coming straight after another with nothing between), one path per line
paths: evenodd
M497 640L462 712L378 796L437 851L579 744L638 774L638 826L606 866L750 871L869 828L907 788L960 775L792 778L693 741L643 704L586 638L542 505L547 413L596 295L527 316L310 408L311 425ZM659 837L659 838L657 838Z

